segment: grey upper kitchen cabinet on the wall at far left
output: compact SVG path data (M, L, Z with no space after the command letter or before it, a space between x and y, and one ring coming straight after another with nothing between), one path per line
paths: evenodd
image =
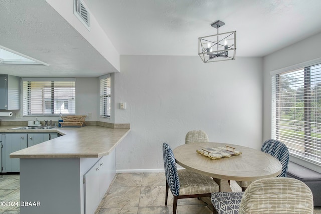
M20 77L0 74L0 110L20 109Z

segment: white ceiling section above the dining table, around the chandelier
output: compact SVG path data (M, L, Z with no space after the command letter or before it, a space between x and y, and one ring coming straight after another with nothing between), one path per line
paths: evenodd
M197 55L198 38L237 31L236 56L265 56L321 31L320 0L85 0L120 54Z

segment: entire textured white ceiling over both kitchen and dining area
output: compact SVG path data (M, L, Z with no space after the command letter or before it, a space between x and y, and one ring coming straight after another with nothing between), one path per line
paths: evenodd
M69 0L72 1L72 0ZM198 37L237 31L237 57L262 57L321 31L320 0L84 0L121 55L197 56ZM63 5L61 6L63 7ZM0 45L49 66L1 74L97 77L116 69L45 0L2 0Z

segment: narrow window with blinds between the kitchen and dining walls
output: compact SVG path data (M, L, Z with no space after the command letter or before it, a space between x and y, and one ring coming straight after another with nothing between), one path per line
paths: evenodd
M100 77L100 116L110 118L111 112L111 78Z

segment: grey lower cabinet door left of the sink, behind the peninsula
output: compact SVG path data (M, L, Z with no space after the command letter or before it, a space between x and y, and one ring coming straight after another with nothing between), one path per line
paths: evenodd
M10 153L27 148L27 134L6 134L3 142L3 171L19 172L19 158L10 158Z

